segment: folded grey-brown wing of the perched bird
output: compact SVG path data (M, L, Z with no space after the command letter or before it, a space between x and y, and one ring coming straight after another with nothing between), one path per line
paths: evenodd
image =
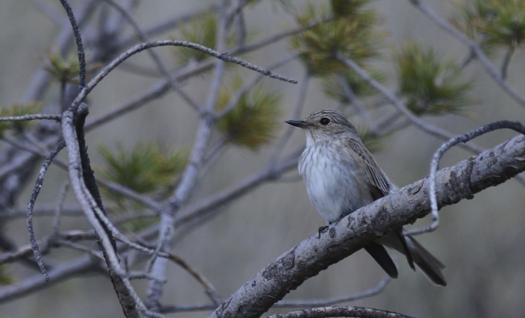
M374 157L372 157L372 154L366 149L363 143L359 140L348 139L348 146L350 147L350 149L352 149L352 151L355 152L357 156L363 159L363 169L366 172L366 176L368 177L370 184L374 188L376 188L372 189L372 191L376 190L377 192L379 192L373 193L374 196L377 196L374 199L379 199L382 196L385 196L388 193L390 193L390 182L386 178L383 171L381 171L381 168L377 166Z

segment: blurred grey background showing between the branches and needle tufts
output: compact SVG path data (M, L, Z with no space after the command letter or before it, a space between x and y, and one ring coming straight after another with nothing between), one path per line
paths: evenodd
M486 1L487 4L494 2L497 1ZM518 0L507 2L517 5L521 3ZM83 3L84 1L71 1L74 10ZM137 3L136 8L132 10L132 15L144 28L212 4L211 1L169 0ZM466 11L462 11L461 8L465 5L476 8L481 1L427 0L423 3L443 18L456 17L461 20L461 17L467 16ZM297 16L312 20L322 17L322 10L329 11L330 2L314 2L315 8L312 12L309 6L306 1L294 1L292 6L285 1L271 0L262 0L247 6L243 10L248 30L246 42L256 42L287 29L297 28L299 23L304 23L304 21L298 23ZM89 39L92 39L89 35L96 34L97 28L100 27L96 21L101 20L105 14L115 14L108 8L97 10L99 11L94 14L92 24L82 31L83 35L87 35L85 41L88 47L88 62L94 58L89 51ZM465 45L439 29L408 1L371 1L360 10L373 12L375 15L374 32L376 33L373 36L377 37L374 39L377 43L374 43L373 48L375 57L363 58L360 62L367 70L377 72L381 82L403 98L407 105L412 102L418 103L417 98L415 101L410 99L410 89L400 85L403 81L402 71L408 72L407 76L415 76L413 75L415 71L405 70L400 66L403 61L409 60L407 56L411 52L419 54L414 58L416 62L418 59L427 64L429 61L440 61L444 64L448 62L443 61L451 61L450 63L455 63L456 67L468 57L469 51ZM523 18L525 8L521 6L521 10L519 14ZM155 34L151 39L191 37L204 24L204 19L196 18L191 23L177 25L176 29ZM521 23L523 21L525 19ZM0 3L2 30L0 31L0 56L2 56L0 105L2 107L27 102L27 92L35 80L36 72L49 65L49 52L52 55L57 51L54 43L63 26L67 26L67 18L58 1L20 0ZM133 30L124 26L121 36L133 39ZM507 79L513 87L525 94L525 72L521 71L525 68L525 55L520 50L520 40L522 39L516 40L516 50L509 64ZM119 52L136 42L119 49ZM279 111L278 115L270 116L268 120L271 120L271 123L264 123L271 127L268 133L272 138L261 142L260 145L257 144L256 147L249 142L239 143L239 140L237 144L227 145L216 162L209 167L205 176L199 180L187 205L198 203L208 195L235 185L266 167L280 136L286 134L288 129L283 121L297 119L292 117L294 107L298 103L301 81L305 80L305 66L312 69L315 67L309 64L308 54L315 56L316 52L308 51L309 48L304 44L306 42L300 37L295 40L287 38L241 56L261 67L268 67L299 51L304 53L306 62L296 59L276 70L279 74L298 79L299 84L293 85L269 78L261 81L260 87L264 90L263 93L270 97L276 96L275 106ZM504 45L498 47L493 43L488 43L485 49L490 53L491 61L499 69L508 50ZM185 57L181 51L182 49L175 50L169 47L156 49L170 70L188 60L191 63L191 59L195 58ZM433 59L425 60L425 52L432 52L427 56L432 55ZM66 54L67 56L69 53ZM99 62L102 65L107 63L107 61ZM323 64L322 59L320 63L321 68L329 69L333 66ZM129 62L121 66L90 93L88 122L90 118L106 114L117 105L132 100L134 96L138 96L140 92L162 80L162 75L158 75L155 65L146 53L132 57ZM437 114L426 112L428 108L420 113L417 113L417 106L411 109L423 120L453 134L463 134L470 129L500 119L520 120L523 123L525 109L503 92L476 60L467 63L464 68L451 70L458 72L455 86L451 89L456 88L459 92L456 92L456 95L452 94L449 100L445 98L446 96L443 98L438 96L444 100L443 102L431 101L434 103L431 106L435 107ZM150 76L148 72L153 74ZM312 72L300 116L306 117L311 112L323 108L339 108L353 115L352 120L358 127L363 128L361 131L364 133L369 131L366 130L366 120L356 114L351 105L343 105L340 98L327 94L325 86L328 80L325 74L321 74L321 71ZM235 82L239 82L236 76L237 78L240 76L242 79L240 83L243 84L256 74L237 65L228 65L224 87L238 89L239 84L235 86ZM204 105L211 78L211 72L199 74L184 83L184 90L197 104ZM461 91L461 87L458 88L461 83L468 83L468 88L465 87ZM39 101L43 105L56 104L59 91L59 83L53 82ZM384 115L395 113L393 106L382 100L380 95L375 92L366 94L363 100L366 101L365 106L370 108L369 114L374 122L379 122ZM254 99L256 100L256 97ZM452 106L446 108L447 105ZM447 110L444 110L445 108ZM87 134L87 142L92 165L96 168L97 175L111 178L109 172L111 167L108 165L108 156L111 155L104 156L101 147L110 149L113 156L117 156L114 153L118 153L115 152L118 149L132 151L140 144L158 144L162 151L177 151L184 157L193 144L197 123L198 115L180 96L173 91L166 93L136 111L90 131ZM400 126L386 136L379 139L371 136L369 140L370 145L375 147L374 156L379 165L392 182L402 187L427 175L430 159L443 141L428 136L415 127ZM214 131L212 141L222 140L221 134L224 134L225 130L228 131L228 123L224 123L222 127L219 126L219 129ZM291 139L283 148L281 158L290 155L304 143L303 133L299 129L296 130L293 130ZM513 135L509 131L497 131L482 136L475 142L481 147L490 148ZM5 150L7 146L2 143L0 147ZM447 152L440 166L454 165L471 155L472 153L458 148L452 149ZM59 157L66 159L66 151L62 151ZM25 182L24 189L19 190L15 207L25 209L41 160L40 158L37 161L28 181ZM52 206L57 201L59 189L66 179L67 175L63 170L52 166L45 179L36 209L39 206ZM166 187L170 188L169 184ZM391 310L416 317L521 317L525 312L525 304L522 301L523 286L525 286L525 267L523 267L525 236L522 229L522 224L525 223L524 190L522 184L512 179L477 194L472 200L445 207L440 212L439 229L432 234L418 237L419 242L447 265L446 288L434 286L421 272L412 272L405 259L397 255L399 278L388 283L379 295L350 304ZM161 196L161 192L162 189L154 195ZM106 195L104 196L103 192L105 205L122 204L127 209L130 208L129 203L118 202L119 199L111 201L114 198L110 194ZM76 201L72 193L68 194L66 202L74 206ZM421 227L428 224L428 221L425 218L413 226ZM4 236L13 239L18 246L28 244L24 217L3 219L0 222L3 224L1 231ZM50 233L52 222L53 217L36 218L37 238ZM297 178L296 168L292 168L282 178L265 182L220 207L214 217L204 224L184 235L177 236L173 253L205 273L220 295L228 297L262 267L304 238L316 233L322 225L324 225L323 220L311 206L302 180ZM61 228L63 230L89 228L89 225L82 216L64 216ZM58 262L79 255L81 253L78 251L59 249L46 255L45 260ZM19 263L7 264L2 267L2 271L3 275L12 278L12 283L15 284L38 274L33 268ZM359 293L375 286L383 275L381 268L372 258L359 251L322 271L317 277L307 280L297 290L286 295L285 300L330 298ZM163 304L208 302L202 287L177 266L168 267L167 279ZM138 281L134 286L143 297L146 282ZM5 285L0 286L0 290L4 287ZM271 310L270 313L287 311L289 310L279 309ZM121 312L110 280L98 273L74 276L52 284L49 288L0 303L2 318L120 316ZM169 316L202 317L207 314L208 312L196 312Z

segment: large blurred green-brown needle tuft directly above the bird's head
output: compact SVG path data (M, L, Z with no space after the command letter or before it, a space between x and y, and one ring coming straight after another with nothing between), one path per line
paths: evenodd
M364 1L354 1L348 6L333 2L332 6L341 12L291 38L291 48L302 53L301 61L313 74L327 75L345 69L335 59L337 54L360 65L379 56L383 34L376 30L376 26L380 20L374 10L362 9L358 3ZM306 13L298 16L297 21L306 25L329 16L331 13L326 7L309 4Z

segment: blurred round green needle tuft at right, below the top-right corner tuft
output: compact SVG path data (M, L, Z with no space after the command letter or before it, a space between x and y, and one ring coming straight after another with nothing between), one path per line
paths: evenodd
M468 115L464 106L471 81L460 81L461 73L452 60L439 60L432 49L407 43L395 56L399 91L416 115L456 113ZM446 76L446 78L445 78Z

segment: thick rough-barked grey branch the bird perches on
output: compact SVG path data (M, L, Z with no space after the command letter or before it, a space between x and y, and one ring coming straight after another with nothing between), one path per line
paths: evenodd
M519 135L440 170L436 179L438 205L445 206L488 187L501 184L525 170L525 136ZM259 271L211 317L259 317L304 280L348 257L383 233L428 214L428 177L373 202L320 235L315 234Z

